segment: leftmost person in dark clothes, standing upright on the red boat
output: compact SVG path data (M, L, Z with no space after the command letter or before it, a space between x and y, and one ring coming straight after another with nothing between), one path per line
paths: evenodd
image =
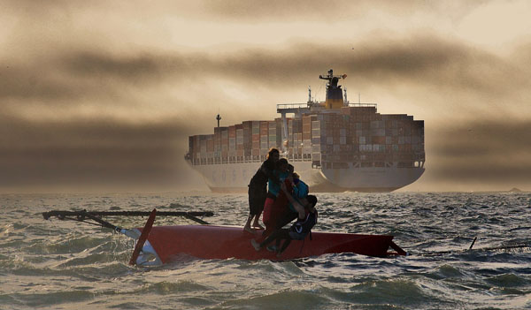
M260 215L264 210L267 196L267 182L269 179L275 179L273 170L276 168L276 163L281 159L281 152L277 148L272 147L267 153L267 159L257 173L250 179L249 183L249 217L247 223L243 226L244 231L254 233L251 229L251 222L253 228L262 229L263 227L258 223Z

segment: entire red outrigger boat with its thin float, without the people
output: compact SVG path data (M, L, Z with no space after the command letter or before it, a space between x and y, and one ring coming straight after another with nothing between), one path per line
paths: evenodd
M123 229L104 221L104 215L146 216L143 228ZM156 216L183 216L196 225L153 226ZM327 253L357 253L368 256L388 257L406 255L396 246L393 236L361 235L352 233L312 232L312 239L293 240L278 258L275 253L263 249L256 251L250 240L261 241L261 231L256 234L243 231L242 227L211 225L196 216L212 216L212 212L88 212L50 211L42 213L44 219L50 216L61 220L74 220L96 224L137 239L135 251L129 261L131 265L152 266L176 261L183 255L199 259L242 259L242 260L294 260ZM393 251L389 251L391 248Z

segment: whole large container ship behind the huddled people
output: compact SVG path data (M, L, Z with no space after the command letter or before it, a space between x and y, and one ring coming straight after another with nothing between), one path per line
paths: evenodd
M189 136L186 161L212 192L242 193L271 147L281 151L312 192L391 192L424 172L424 121L380 114L375 103L350 103L346 75L333 70L325 102L277 104L281 117L214 127Z

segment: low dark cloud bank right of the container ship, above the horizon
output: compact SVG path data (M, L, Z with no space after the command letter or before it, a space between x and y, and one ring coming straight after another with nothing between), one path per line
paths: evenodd
M427 146L430 173L441 180L528 182L531 120L476 120L434 129Z

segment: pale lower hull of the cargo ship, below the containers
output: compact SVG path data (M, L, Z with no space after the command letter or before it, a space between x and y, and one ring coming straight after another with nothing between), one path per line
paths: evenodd
M313 193L392 192L420 178L424 168L369 167L345 169L313 168L311 162L290 162ZM261 163L192 165L214 193L245 193L250 178Z

